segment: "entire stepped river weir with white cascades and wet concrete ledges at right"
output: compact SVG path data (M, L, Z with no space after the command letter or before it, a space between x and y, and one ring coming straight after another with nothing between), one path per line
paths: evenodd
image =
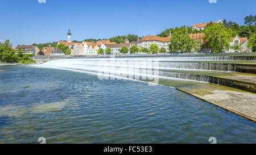
M65 58L32 66L91 73L98 79L135 79L175 87L256 121L256 106L250 104L256 102L253 56Z

